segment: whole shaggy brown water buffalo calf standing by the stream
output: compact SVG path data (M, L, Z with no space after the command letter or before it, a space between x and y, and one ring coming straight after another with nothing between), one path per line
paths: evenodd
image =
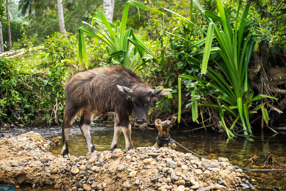
M129 116L135 114L134 122L144 125L150 103L154 99L172 92L171 89L153 90L140 76L122 66L101 67L80 72L65 84L65 111L62 127L63 157L69 157L67 139L76 115L81 114L80 130L84 135L88 150L95 151L89 126L93 115L108 112L117 114L111 150L117 150L118 137L123 131L125 149L134 149L131 141Z

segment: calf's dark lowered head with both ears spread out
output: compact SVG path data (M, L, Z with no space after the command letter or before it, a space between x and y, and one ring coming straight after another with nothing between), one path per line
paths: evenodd
M130 89L125 86L117 85L118 89L127 94L128 98L131 99L134 104L136 115L134 122L138 125L144 125L148 122L147 115L149 113L151 101L158 100L160 97L171 93L172 89L156 89L150 90L149 88L136 87Z

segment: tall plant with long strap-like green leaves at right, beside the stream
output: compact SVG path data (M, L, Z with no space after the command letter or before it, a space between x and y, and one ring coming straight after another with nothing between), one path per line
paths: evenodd
M241 17L241 23L238 23L239 11L241 5L238 5L237 16L235 19L235 24L232 25L229 15L229 7L224 7L222 1L217 0L217 6L219 9L219 15L209 15L211 19L219 22L223 29L219 29L215 23L211 20L208 31L206 35L206 42L203 51L202 61L197 60L196 65L201 64L202 74L206 73L208 68L207 77L210 79L203 80L189 75L179 75L181 78L187 78L196 80L198 86L208 88L208 86L215 88L216 94L216 104L200 104L200 106L210 107L213 109L218 109L220 112L220 118L222 127L226 130L229 137L235 136L230 130L233 128L237 120L233 122L230 128L225 124L224 114L230 115L233 118L239 119L243 124L243 129L245 135L248 133L252 135L251 126L249 123L249 115L257 109L261 108L265 121L268 122L268 114L265 112L264 107L259 105L253 108L253 102L264 97L269 97L266 95L259 95L254 97L253 90L248 88L247 83L247 68L250 57L252 56L254 50L255 42L252 40L252 35L249 34L249 21L246 20L250 2L244 7L243 15ZM217 43L213 45L213 35L217 39ZM198 51L199 52L199 51ZM211 55L219 54L221 58L214 59ZM221 69L227 80L221 75L217 70L212 69L208 66L208 60L212 58L212 61ZM199 83L198 83L199 82ZM180 84L179 84L180 86ZM192 95L196 94L196 86L192 90ZM273 98L273 97L271 97ZM273 98L275 99L275 98ZM197 99L192 97L192 114L193 121L198 118L197 109ZM221 104L223 103L223 105ZM179 111L180 112L180 111ZM195 114L194 114L195 113Z

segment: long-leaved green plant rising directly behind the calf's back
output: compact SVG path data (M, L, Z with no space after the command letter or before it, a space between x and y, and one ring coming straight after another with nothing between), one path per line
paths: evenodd
M128 1L124 5L124 10L122 14L121 21L116 21L116 24L109 23L106 20L106 17L102 11L98 11L94 13L94 17L92 18L91 24L82 22L82 26L79 28L79 61L81 64L82 57L84 58L84 62L86 68L88 68L88 58L86 53L86 46L84 42L84 33L96 37L101 40L104 44L106 44L106 51L108 54L108 63L106 64L122 64L128 68L137 67L140 65L144 65L148 60L152 59L151 55L144 55L143 52L146 50L149 54L152 54L150 49L146 46L146 44L133 32L132 28L126 29L126 21L128 15L129 4L140 5L141 8L146 8L145 5L137 3L135 1ZM155 10L155 9L154 9ZM97 23L100 29L92 26L94 23ZM120 27L118 27L120 23ZM83 27L86 25L94 29L97 33L90 31L89 29ZM104 31L101 32L100 30ZM130 44L132 44L130 46Z

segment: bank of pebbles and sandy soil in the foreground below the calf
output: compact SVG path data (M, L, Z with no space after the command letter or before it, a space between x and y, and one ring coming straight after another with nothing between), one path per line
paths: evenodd
M1 137L0 183L68 191L231 191L249 184L248 176L226 158L200 160L167 147L138 147L65 159L48 152L49 144L33 131Z

